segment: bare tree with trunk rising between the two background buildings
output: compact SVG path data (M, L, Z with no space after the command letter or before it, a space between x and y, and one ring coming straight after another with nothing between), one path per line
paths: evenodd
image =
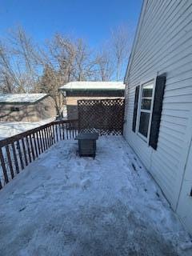
M57 114L61 116L62 95L59 88L73 80L76 54L74 43L68 37L55 34L54 38L46 42L46 50L39 51L43 72L35 86L35 91L50 94L54 99Z

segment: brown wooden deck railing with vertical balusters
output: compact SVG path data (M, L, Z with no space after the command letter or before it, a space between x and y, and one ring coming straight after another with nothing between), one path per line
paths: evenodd
M56 142L74 138L78 120L47 123L0 141L0 190Z

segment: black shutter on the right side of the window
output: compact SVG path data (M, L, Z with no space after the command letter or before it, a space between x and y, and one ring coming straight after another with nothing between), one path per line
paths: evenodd
M158 132L162 115L162 101L164 90L166 86L166 74L162 74L156 79L156 86L154 92L154 107L150 126L150 142L149 145L157 150L158 146Z

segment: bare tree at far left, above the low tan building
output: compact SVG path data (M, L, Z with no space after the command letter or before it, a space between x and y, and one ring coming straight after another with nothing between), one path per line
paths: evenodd
M0 43L0 85L4 92L30 92L39 76L34 43L18 27Z

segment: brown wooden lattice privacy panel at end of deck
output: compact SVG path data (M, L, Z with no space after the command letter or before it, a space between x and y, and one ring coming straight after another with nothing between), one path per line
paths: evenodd
M123 98L78 100L79 131L100 135L120 135L123 130Z

